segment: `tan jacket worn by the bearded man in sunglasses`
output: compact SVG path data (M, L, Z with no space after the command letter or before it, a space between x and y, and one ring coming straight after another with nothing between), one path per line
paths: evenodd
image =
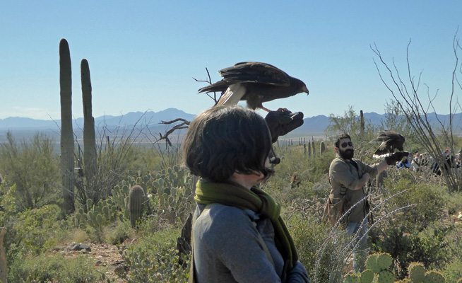
M360 202L365 196L365 187L360 190L353 190L362 178L364 173L369 173L370 178L377 176L377 166L368 166L360 160L354 159L353 162L345 161L340 156L336 156L329 167L329 180L331 182L331 194L329 198L332 203L336 203L345 198L345 211L348 211L354 204ZM366 216L365 202L357 204L353 207L348 216L348 222L359 222Z

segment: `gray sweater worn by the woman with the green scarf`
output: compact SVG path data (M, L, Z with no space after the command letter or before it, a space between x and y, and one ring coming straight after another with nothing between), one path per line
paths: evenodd
M274 242L270 219L261 219L251 210L215 204L199 204L195 212L194 262L197 281L207 282L281 282L284 261ZM200 214L200 216L199 216ZM199 216L199 217L198 217ZM268 260L259 239L261 234L273 263ZM300 262L285 282L309 282Z

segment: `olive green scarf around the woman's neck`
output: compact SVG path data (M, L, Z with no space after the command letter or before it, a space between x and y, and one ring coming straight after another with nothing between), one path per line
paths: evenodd
M199 180L194 200L199 204L220 203L239 209L250 209L271 219L276 246L283 255L285 262L287 262L288 271L292 270L298 260L297 249L283 219L279 215L280 204L266 192L256 186L248 190L240 185L206 183Z

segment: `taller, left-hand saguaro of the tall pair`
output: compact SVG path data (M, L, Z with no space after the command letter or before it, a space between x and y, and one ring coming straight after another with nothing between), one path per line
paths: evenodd
M74 212L74 140L72 130L72 71L71 52L64 38L59 42L59 87L61 96L61 184L64 197L63 212Z

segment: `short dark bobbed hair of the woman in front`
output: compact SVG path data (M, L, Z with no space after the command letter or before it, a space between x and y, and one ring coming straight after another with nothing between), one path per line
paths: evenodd
M271 150L266 122L254 110L213 107L199 114L189 125L183 143L184 163L191 173L223 183L235 172L273 173L265 168Z

